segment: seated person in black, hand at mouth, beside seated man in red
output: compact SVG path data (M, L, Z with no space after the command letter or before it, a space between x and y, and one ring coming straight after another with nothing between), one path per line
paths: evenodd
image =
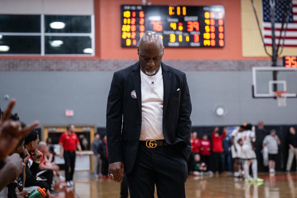
M50 196L50 186L43 182L43 181L39 181L36 178L37 175L37 170L38 170L38 166L40 164L40 161L43 157L43 154L37 150L37 144L39 141L39 136L38 136L38 132L33 130L31 131L28 136L25 139L25 148L28 150L28 153L30 154L33 162L31 164L31 166L29 167L29 163L27 162L26 164L26 182L25 182L25 188L26 189L30 189L30 190L34 190L36 188L36 186L39 186L41 188L45 188L46 190L46 196L49 197Z

